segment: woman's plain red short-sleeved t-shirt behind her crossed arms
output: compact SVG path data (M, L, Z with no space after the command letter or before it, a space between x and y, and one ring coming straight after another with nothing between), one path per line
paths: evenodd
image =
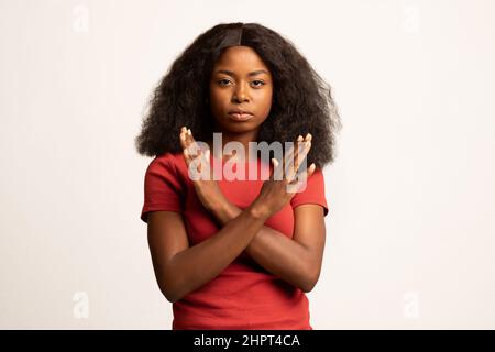
M245 180L217 180L226 198L241 209L253 202L263 185L263 179L248 179L249 164L255 163L258 170L270 167L258 158L245 162ZM320 169L307 179L306 189L297 193L265 226L293 238L294 208L304 204L320 205L324 216L328 213ZM147 212L156 210L183 215L191 246L220 230L197 197L182 153L158 155L146 169L141 219L147 222ZM173 312L173 330L312 330L305 293L266 271L245 252L211 282L174 302Z

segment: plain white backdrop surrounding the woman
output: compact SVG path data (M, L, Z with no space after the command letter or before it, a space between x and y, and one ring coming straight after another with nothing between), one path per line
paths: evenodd
M293 41L342 116L314 328L495 328L494 15L490 0L1 0L0 328L170 328L133 140L175 57L237 21Z

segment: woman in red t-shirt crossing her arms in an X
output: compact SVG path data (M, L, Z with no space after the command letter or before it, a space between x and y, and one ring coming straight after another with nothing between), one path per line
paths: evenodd
M322 167L333 161L339 127L330 86L263 25L218 24L174 62L136 139L141 154L155 156L141 219L173 329L312 329L305 293L320 275ZM220 151L238 143L245 154L217 153L217 133ZM191 153L195 139L207 148ZM270 164L250 142L296 145ZM270 179L193 179L199 158L198 170L231 163L268 168ZM310 166L299 172L302 161ZM306 188L288 191L296 175Z

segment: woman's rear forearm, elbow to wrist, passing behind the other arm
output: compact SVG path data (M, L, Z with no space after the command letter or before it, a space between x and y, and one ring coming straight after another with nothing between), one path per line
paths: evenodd
M242 209L227 201L211 212L221 226L228 226L242 212ZM251 240L245 252L265 270L304 292L311 290L315 285L309 251L279 231L263 226Z

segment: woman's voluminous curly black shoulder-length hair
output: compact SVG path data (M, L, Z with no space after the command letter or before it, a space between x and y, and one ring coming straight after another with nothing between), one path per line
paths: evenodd
M135 139L138 152L147 156L182 152L178 133L184 125L191 129L197 141L212 139L208 82L222 51L233 45L252 47L273 76L274 100L256 142L278 141L285 145L309 132L312 141L308 165L315 163L322 168L332 163L341 122L330 85L289 40L258 23L242 22L215 25L175 59L151 96Z

